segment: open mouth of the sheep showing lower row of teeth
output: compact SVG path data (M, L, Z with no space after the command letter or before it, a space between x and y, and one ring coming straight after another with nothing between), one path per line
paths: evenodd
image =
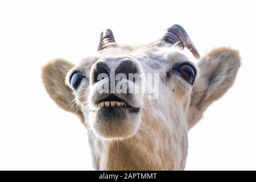
M121 98L114 96L113 94L109 97L105 98L104 100L101 100L98 102L98 108L100 107L129 107L129 108L135 108L130 106L125 102L125 100L122 100Z

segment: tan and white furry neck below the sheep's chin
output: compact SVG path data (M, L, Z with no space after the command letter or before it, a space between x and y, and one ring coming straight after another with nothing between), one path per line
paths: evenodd
M155 123L159 125L155 126ZM162 125L160 125L162 123ZM182 122L175 122L182 123ZM174 124L174 123L172 123ZM147 127L142 127L147 126ZM180 131L173 131L180 128ZM97 170L181 170L187 156L187 127L150 119L129 139L102 140L89 134Z

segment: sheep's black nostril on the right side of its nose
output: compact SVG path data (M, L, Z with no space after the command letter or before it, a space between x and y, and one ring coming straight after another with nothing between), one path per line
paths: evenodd
M125 74L126 78L129 79L129 74L138 73L138 69L134 61L123 60L122 63L118 65L117 69L115 69L115 75L117 75L118 73Z

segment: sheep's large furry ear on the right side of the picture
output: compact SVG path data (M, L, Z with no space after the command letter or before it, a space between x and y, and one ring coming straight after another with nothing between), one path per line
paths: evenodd
M239 67L239 53L231 48L213 49L200 60L188 111L189 128L199 121L213 101L233 85Z

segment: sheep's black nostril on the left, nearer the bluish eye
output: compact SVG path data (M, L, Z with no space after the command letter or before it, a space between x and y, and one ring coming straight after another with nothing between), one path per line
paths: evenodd
M103 74L100 75L101 73ZM110 69L108 65L106 65L104 62L99 62L95 65L93 80L94 82L98 82L104 79L105 77L110 77Z

